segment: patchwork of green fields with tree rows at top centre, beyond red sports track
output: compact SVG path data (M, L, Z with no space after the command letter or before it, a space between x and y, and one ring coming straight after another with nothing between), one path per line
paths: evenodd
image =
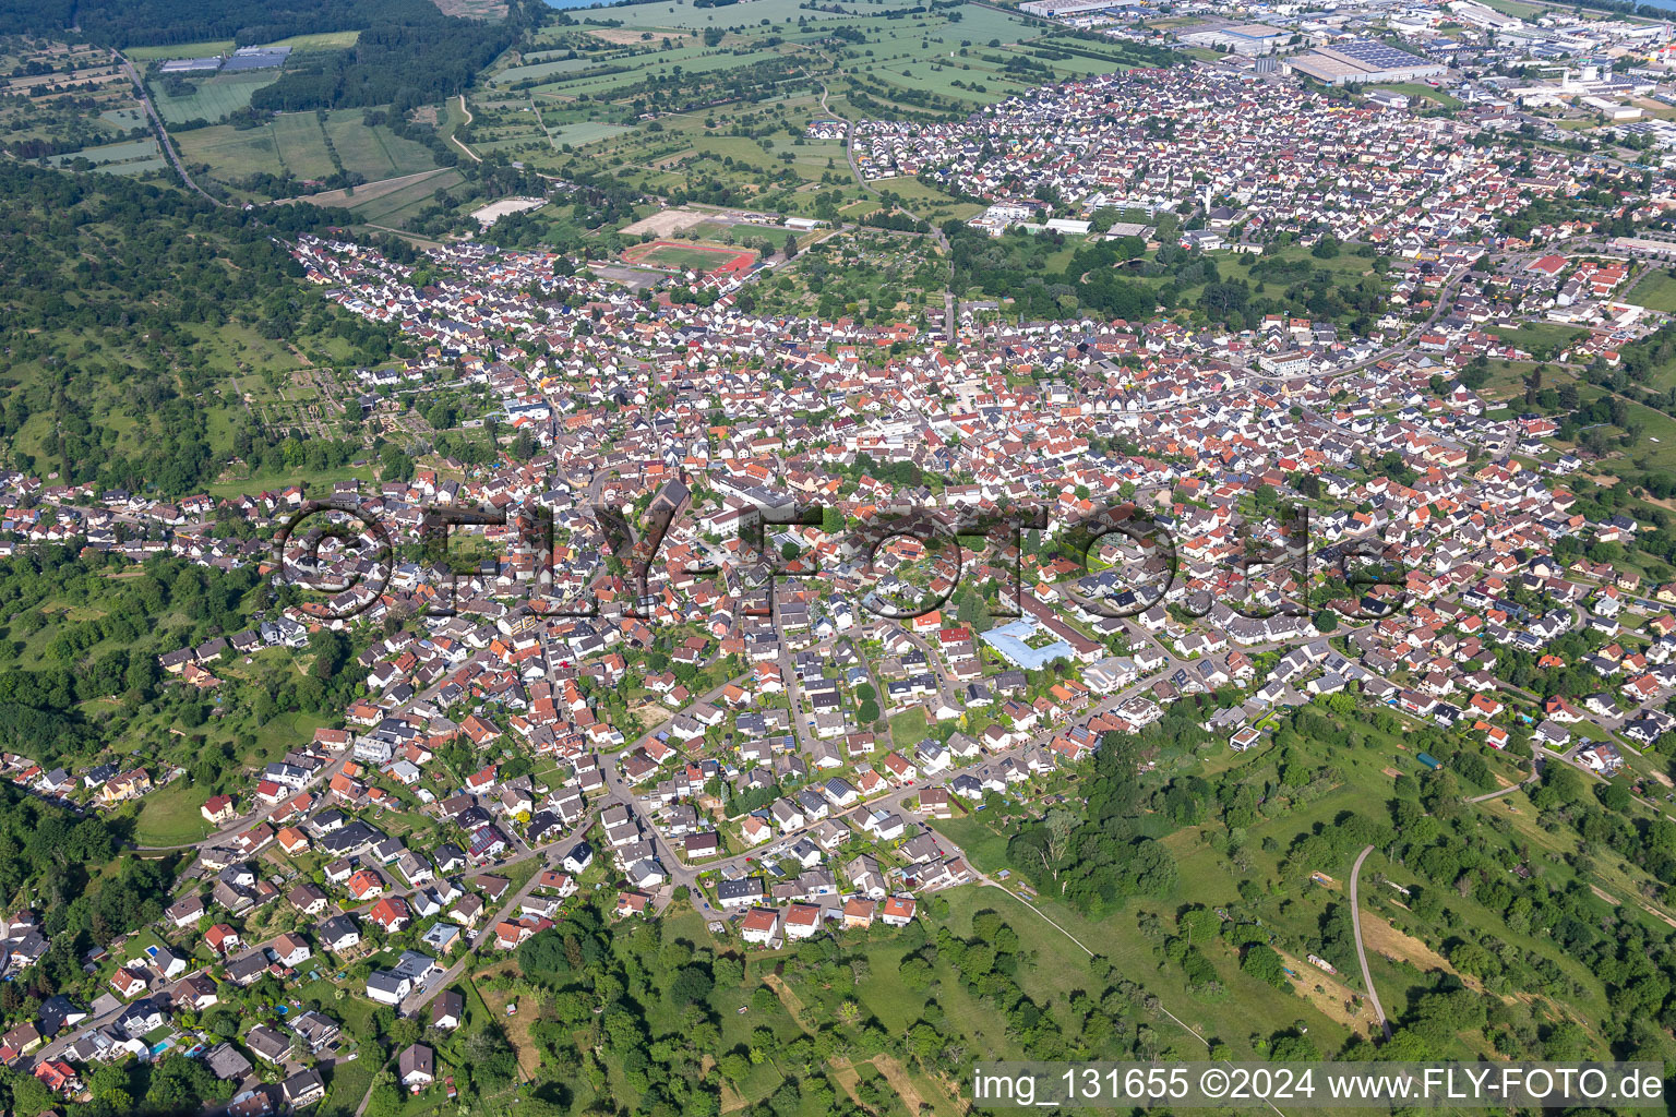
M877 203L843 142L803 137L813 119L949 116L1125 65L1121 47L1104 57L972 3L892 18L865 3L754 0L746 17L652 0L566 18L486 75L471 97L474 149L801 216L821 216L813 196L826 188L840 204ZM887 188L927 219L965 216L917 181Z

